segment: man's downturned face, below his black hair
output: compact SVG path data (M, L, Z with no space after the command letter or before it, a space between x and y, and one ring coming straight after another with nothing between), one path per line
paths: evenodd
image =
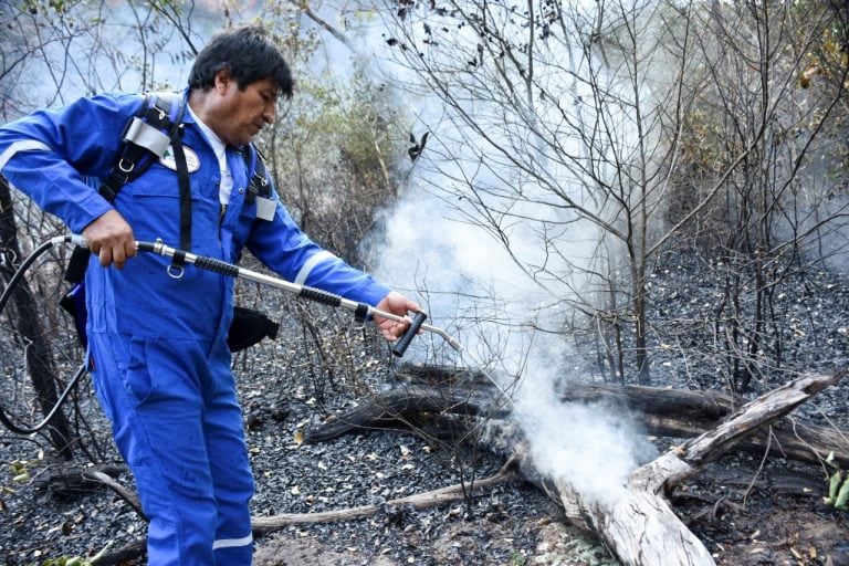
M240 91L234 80L219 73L216 90L220 95L219 119L212 129L224 144L247 144L263 126L274 122L280 90L271 78L261 78Z

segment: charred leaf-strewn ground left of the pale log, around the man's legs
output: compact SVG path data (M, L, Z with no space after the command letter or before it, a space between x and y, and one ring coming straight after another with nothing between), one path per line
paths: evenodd
M302 307L284 308L297 316ZM521 479L429 510L384 505L492 475L504 464L500 457L463 444L447 448L403 429L361 430L326 442L304 442L311 427L365 402L391 381L397 363L376 333L367 331L364 336L344 315L321 307L313 312L313 324L335 335L323 344L342 345L347 354L336 358L335 350L318 353L316 343L300 334L308 332L298 326L298 332L290 328L275 342L234 358L256 482L253 514L269 517L363 505L377 505L379 511L367 518L296 524L259 536L254 564L533 564L539 556L551 564L615 564L591 536L566 527L557 505ZM322 359L332 360L329 371L322 370ZM365 376L370 382L350 376ZM88 388L87 380L82 387ZM98 440L109 454L107 463L122 465L99 411L90 412L88 422L101 427ZM38 434L3 433L0 461L4 464L0 565L59 564L49 560L91 557L107 546L115 553L144 538L146 523L114 491L95 484L59 494L51 489L56 475L90 465L84 454L69 463ZM133 491L127 472L117 481ZM136 557L122 564L145 560Z

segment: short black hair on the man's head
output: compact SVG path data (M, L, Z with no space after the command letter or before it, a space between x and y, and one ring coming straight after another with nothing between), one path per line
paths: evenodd
M213 87L216 74L222 69L230 71L241 91L268 77L277 84L281 95L292 96L294 81L289 64L261 25L242 25L216 34L195 60L189 87Z

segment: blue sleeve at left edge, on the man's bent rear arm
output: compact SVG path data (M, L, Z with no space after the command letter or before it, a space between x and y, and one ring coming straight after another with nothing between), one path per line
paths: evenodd
M0 127L0 172L74 232L111 210L85 182L114 166L138 95L105 94L36 111Z

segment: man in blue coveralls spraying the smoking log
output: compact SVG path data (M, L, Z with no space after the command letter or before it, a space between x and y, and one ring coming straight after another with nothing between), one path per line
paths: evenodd
M82 98L0 128L0 172L82 233L94 253L85 275L92 377L150 520L151 565L250 564L253 478L226 343L233 281L199 269L177 276L159 255L134 258L136 240L176 245L190 233L199 255L235 262L247 248L290 281L398 315L420 310L321 250L274 191L248 198L248 144L292 88L284 57L261 28L217 35L191 70L179 139L114 200L85 179L109 175L142 96ZM188 227L178 145L190 180ZM377 322L389 340L407 327Z

